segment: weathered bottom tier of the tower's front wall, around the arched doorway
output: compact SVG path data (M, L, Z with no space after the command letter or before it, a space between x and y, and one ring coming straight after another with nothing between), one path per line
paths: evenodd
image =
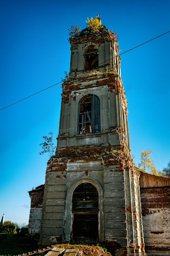
M138 175L138 172L134 167L130 155L128 155L126 151L123 151L121 147L119 147L119 149L116 148L117 147L109 145L109 143L107 147L102 147L102 145L96 148L91 148L89 145L84 147L67 147L61 151L58 149L56 156L48 161L45 215L47 216L48 214L47 218L50 218L51 221L46 220L43 224L43 240L46 241L44 244L48 242L61 242L62 239L64 240L65 236L66 241L68 241L67 234L65 233L65 225L69 220L67 219L65 200L67 200L66 195L69 187L74 183L74 180L88 180L88 178L100 180L103 176L104 180L102 178L100 182L105 190L105 241L110 241L109 244L113 244L113 247L114 243L121 244L125 247L127 246L125 238L128 236L126 230L128 217L126 214L124 182L129 174L133 177ZM61 157L63 151L65 155ZM138 180L138 178L136 178L136 180ZM50 196L50 200L48 199L50 198L49 193L53 193L53 195L51 194ZM55 215L54 212L56 212ZM131 218L134 218L130 206L128 207L128 212ZM61 222L60 218L63 218L63 222ZM139 216L137 216L136 219L134 218L134 220L138 221L137 218L139 219ZM71 222L73 222L73 218L71 218ZM50 235L49 225L51 227ZM71 224L69 242L73 242L72 228L73 224ZM116 230L117 235L115 233ZM126 250L124 250L124 252L125 251Z

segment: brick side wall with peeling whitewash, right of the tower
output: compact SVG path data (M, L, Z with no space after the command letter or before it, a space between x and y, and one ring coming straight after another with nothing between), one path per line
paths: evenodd
M170 187L140 187L146 250L170 250Z

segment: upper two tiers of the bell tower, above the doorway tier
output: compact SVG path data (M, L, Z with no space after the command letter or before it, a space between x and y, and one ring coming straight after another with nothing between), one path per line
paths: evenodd
M127 99L114 33L103 27L92 36L84 29L70 43L70 78L63 83L57 152L92 144L99 151L111 145L129 153Z

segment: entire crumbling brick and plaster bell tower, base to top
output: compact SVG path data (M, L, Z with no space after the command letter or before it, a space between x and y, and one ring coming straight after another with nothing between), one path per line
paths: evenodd
M94 34L82 30L70 44L40 244L105 242L137 254L144 251L139 175L130 157L118 41L103 26Z

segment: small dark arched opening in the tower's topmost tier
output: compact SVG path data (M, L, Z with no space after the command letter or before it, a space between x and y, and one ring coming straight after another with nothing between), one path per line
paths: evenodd
M99 48L90 45L85 50L85 71L97 69L99 67Z

